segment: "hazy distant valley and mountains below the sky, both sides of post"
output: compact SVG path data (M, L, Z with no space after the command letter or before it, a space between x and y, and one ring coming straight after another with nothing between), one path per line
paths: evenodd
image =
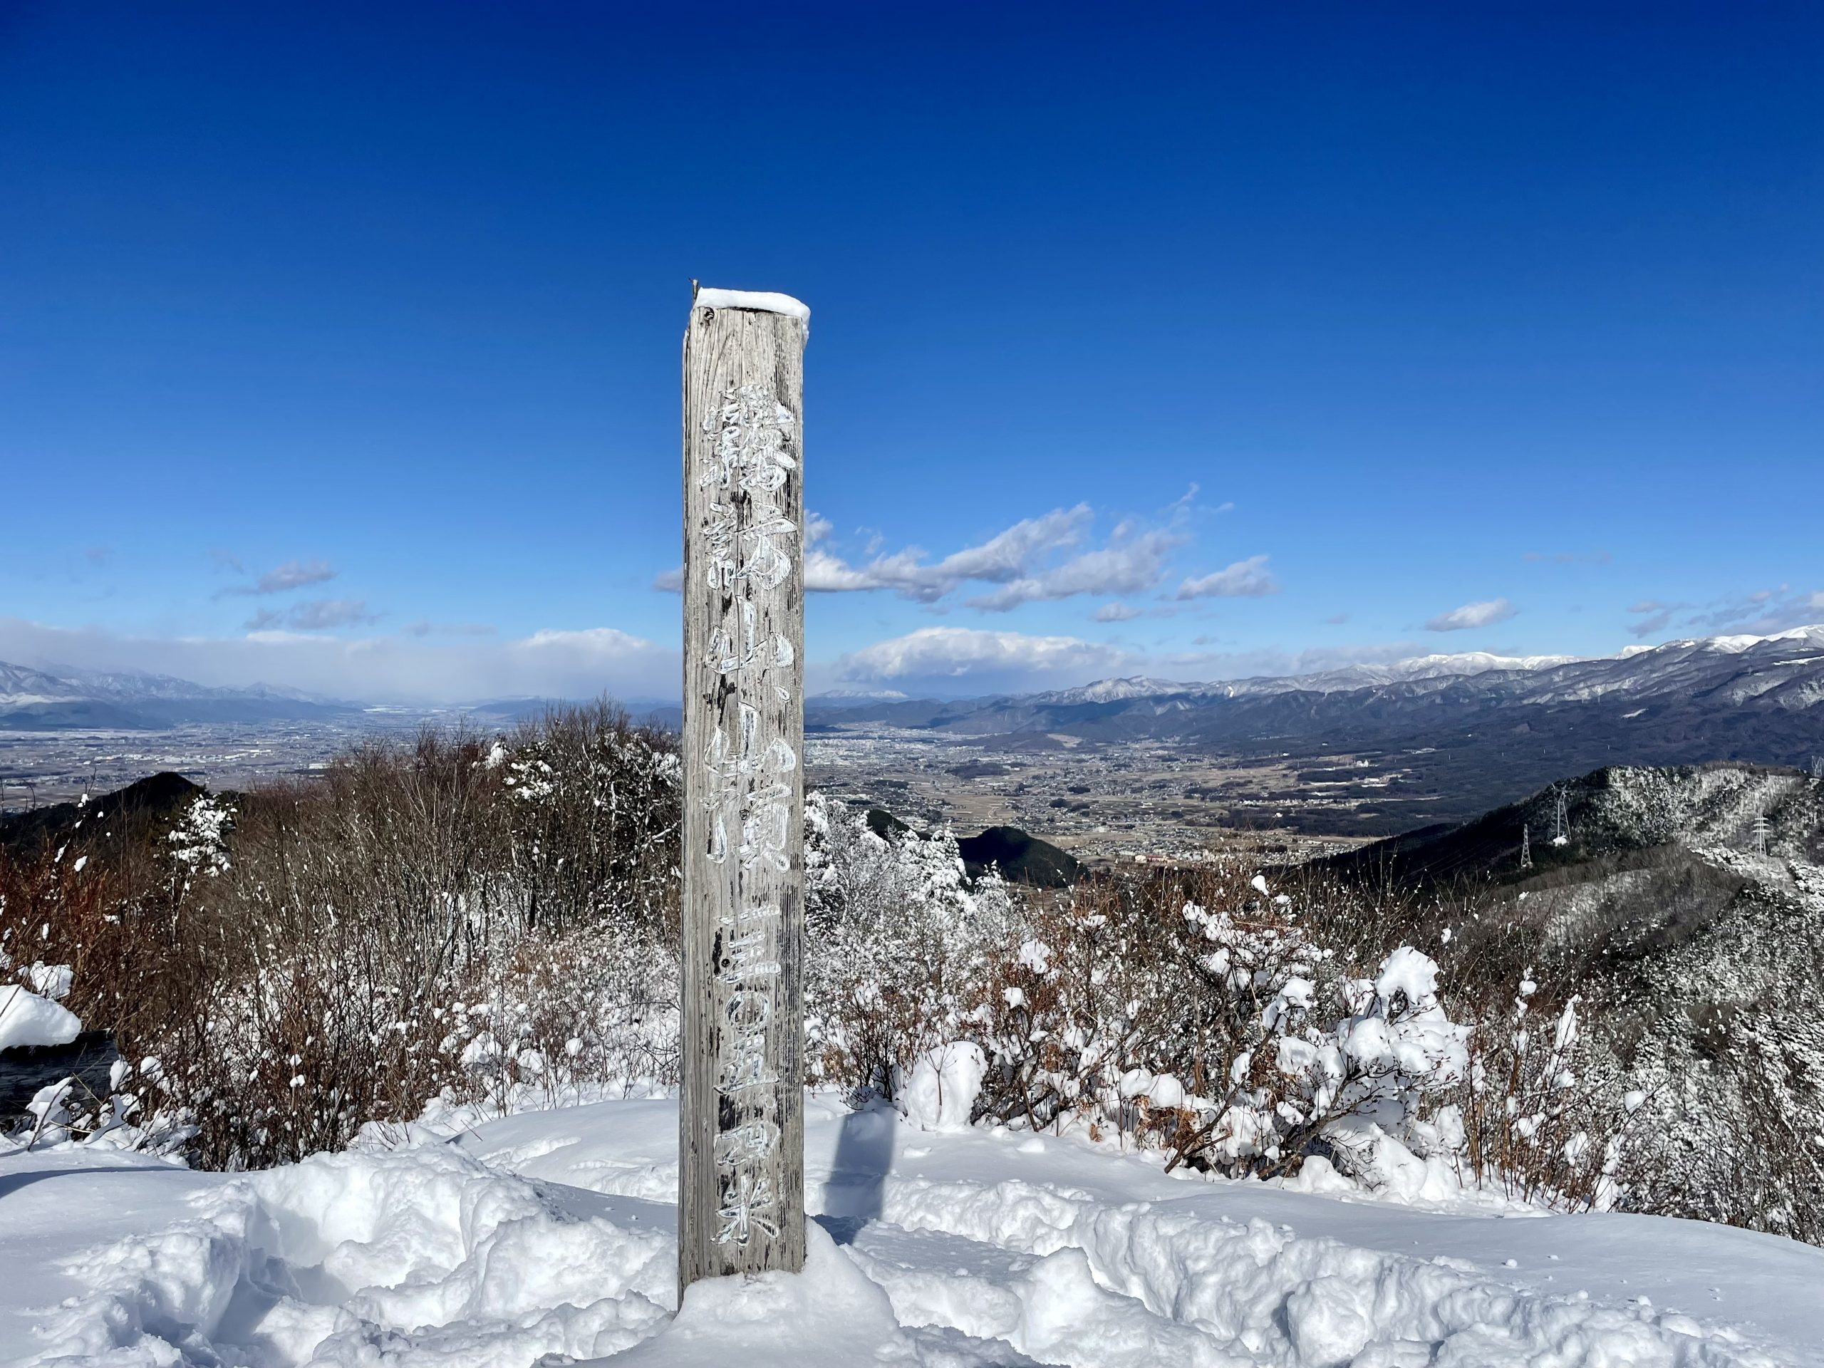
M321 770L368 737L491 735L554 702L372 706L0 664L0 795L62 801L159 770L237 788ZM629 711L677 724L675 704ZM808 775L830 793L965 835L1018 826L1091 863L1383 837L1607 764L1707 761L1824 762L1824 626L1598 658L1430 655L947 700L835 691L806 710Z

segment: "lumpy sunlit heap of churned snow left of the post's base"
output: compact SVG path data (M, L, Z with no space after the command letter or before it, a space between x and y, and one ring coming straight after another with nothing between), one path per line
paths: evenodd
M89 1249L29 1364L483 1368L613 1353L664 1324L675 1244L576 1218L451 1147L317 1155Z

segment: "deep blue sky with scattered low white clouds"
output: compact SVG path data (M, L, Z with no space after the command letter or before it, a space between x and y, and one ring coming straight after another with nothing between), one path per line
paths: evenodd
M814 310L881 586L817 684L1824 620L1820 69L1778 4L0 0L0 658L673 691L691 277Z

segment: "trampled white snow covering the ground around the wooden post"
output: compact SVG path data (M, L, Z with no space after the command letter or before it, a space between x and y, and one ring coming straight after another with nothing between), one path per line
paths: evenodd
M447 1114L252 1175L0 1158L0 1361L1824 1364L1824 1249L1166 1175L830 1096L806 1275L697 1284L673 1319L675 1135L644 1100Z

